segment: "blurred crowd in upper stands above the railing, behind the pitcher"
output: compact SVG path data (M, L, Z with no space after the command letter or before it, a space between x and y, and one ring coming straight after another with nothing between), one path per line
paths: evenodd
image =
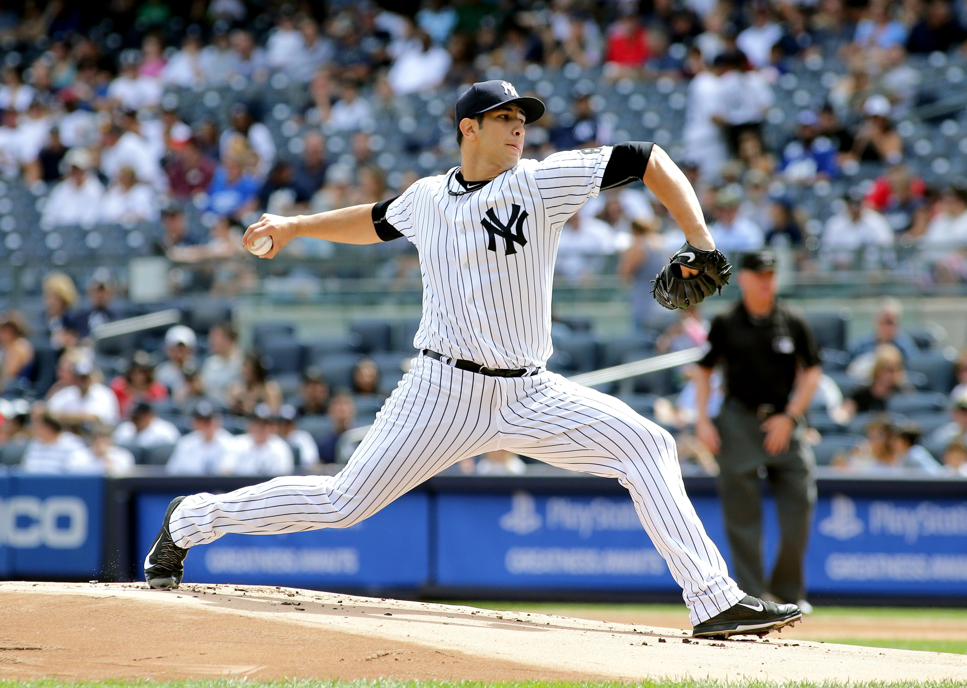
M956 138L967 120L954 108L933 124L951 150L907 140L916 108L963 79L952 67L929 91L913 63L964 53L962 0L425 0L412 15L336 1L182 4L101 16L51 0L3 14L0 171L49 191L44 229L161 222L156 252L183 268L220 261L195 287L239 293L255 283L238 252L249 219L382 200L445 170L455 95L523 74L521 88L549 104L525 155L661 139L723 250L790 247L793 265L815 272L895 268L896 251L915 246L923 279L967 280L967 138ZM571 72L585 78L547 99L555 87L542 75ZM788 93L809 74L819 90ZM262 98L275 91L274 105ZM220 110L223 92L238 98ZM668 107L640 114L656 96ZM186 211L202 230L187 231ZM632 244L629 262L649 269L648 255L681 244L640 185L572 218L560 276L581 284ZM330 252L306 240L289 254Z

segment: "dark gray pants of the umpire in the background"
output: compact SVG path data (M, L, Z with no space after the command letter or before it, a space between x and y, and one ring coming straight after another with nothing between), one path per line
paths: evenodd
M762 447L765 433L759 429L761 424L754 412L732 398L725 400L716 418L721 439L718 496L732 549L732 575L750 595L771 592L783 602L796 602L806 597L803 559L816 502L815 459L804 440L805 424L793 431L789 450L777 456L770 456ZM762 566L760 467L766 470L776 500L781 531L769 580Z

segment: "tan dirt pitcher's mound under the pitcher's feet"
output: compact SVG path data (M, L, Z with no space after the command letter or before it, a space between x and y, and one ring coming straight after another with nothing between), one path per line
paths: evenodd
M289 588L0 583L0 678L925 680L967 657Z

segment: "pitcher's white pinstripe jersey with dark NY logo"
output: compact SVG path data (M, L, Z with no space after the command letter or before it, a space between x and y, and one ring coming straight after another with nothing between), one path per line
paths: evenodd
M565 221L598 195L611 147L521 159L486 186L463 191L425 177L386 219L420 253L418 349L495 368L541 368L550 357L550 300ZM448 185L450 190L448 190Z

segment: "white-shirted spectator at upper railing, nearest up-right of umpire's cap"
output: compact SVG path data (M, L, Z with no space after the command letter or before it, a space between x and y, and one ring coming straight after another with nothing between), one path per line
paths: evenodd
M845 208L826 220L820 256L836 268L849 268L857 251L864 249L864 261L873 263L893 246L894 230L886 217L864 207L860 189L852 189L843 200Z

